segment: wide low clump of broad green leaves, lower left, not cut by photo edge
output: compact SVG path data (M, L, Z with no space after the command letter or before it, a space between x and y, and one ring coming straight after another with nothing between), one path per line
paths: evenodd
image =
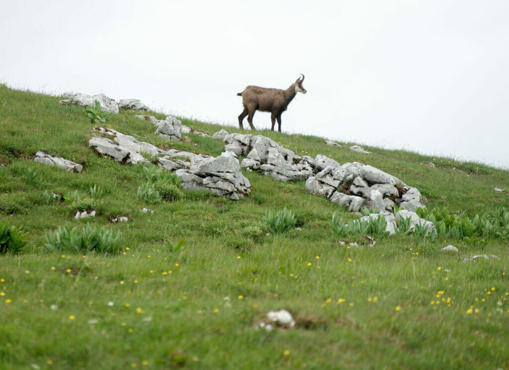
M115 230L87 224L81 231L77 227L59 227L46 234L45 248L51 252L118 253L122 248L122 234Z

